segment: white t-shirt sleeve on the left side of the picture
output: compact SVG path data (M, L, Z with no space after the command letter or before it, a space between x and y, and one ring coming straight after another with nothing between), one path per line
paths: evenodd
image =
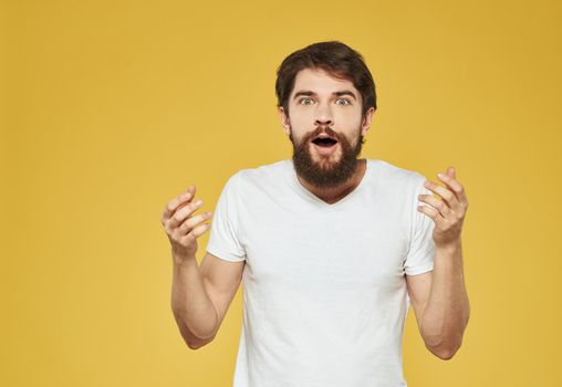
M212 215L207 251L215 257L230 262L246 260L246 250L240 242L240 175L231 176L217 201Z

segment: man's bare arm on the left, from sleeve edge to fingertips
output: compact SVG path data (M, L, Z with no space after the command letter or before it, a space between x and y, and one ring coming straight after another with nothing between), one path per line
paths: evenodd
M171 310L184 341L197 349L211 342L240 284L244 262L226 262L206 253L201 268L195 253L197 238L210 229L202 221L211 213L192 216L202 201L194 201L195 185L174 198L162 216L171 243Z

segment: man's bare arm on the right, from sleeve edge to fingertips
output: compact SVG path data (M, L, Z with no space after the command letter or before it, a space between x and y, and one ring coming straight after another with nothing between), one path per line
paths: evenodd
M438 174L446 187L426 181L425 187L439 195L420 195L430 206L418 210L433 219L435 257L433 272L407 275L419 332L426 347L443 359L451 358L462 342L470 306L465 286L460 232L468 200L462 186L455 179L454 168Z

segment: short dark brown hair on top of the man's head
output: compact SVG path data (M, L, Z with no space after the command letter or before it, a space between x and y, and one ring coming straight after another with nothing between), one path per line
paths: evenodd
M353 82L363 101L362 116L368 108L376 109L375 82L363 56L348 45L339 42L314 43L287 56L277 71L275 94L278 107L289 115L289 96L294 87L296 73L304 69L322 69L332 76Z

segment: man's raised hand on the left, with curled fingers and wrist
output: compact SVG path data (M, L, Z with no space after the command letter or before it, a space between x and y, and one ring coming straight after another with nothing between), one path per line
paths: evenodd
M211 212L191 216L202 205L202 200L194 199L195 185L191 185L186 192L171 199L162 215L162 224L170 241L176 263L194 258L198 248L197 238L210 229L210 223L200 223L211 219Z

